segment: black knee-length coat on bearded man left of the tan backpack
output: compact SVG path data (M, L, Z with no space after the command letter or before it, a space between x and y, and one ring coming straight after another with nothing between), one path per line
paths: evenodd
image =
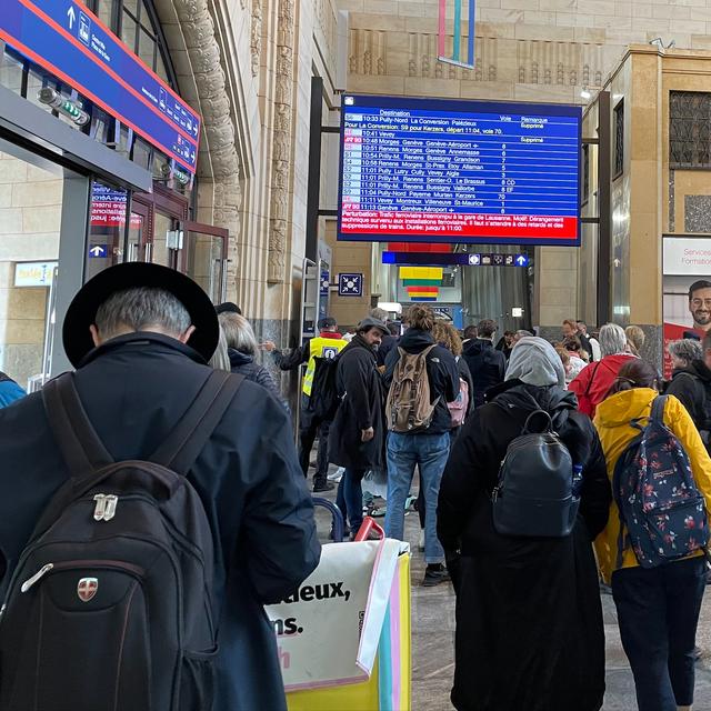
M329 461L348 469L372 469L383 463L385 429L383 391L375 352L359 336L338 357L337 389L341 399L329 433ZM363 442L362 430L374 437Z

